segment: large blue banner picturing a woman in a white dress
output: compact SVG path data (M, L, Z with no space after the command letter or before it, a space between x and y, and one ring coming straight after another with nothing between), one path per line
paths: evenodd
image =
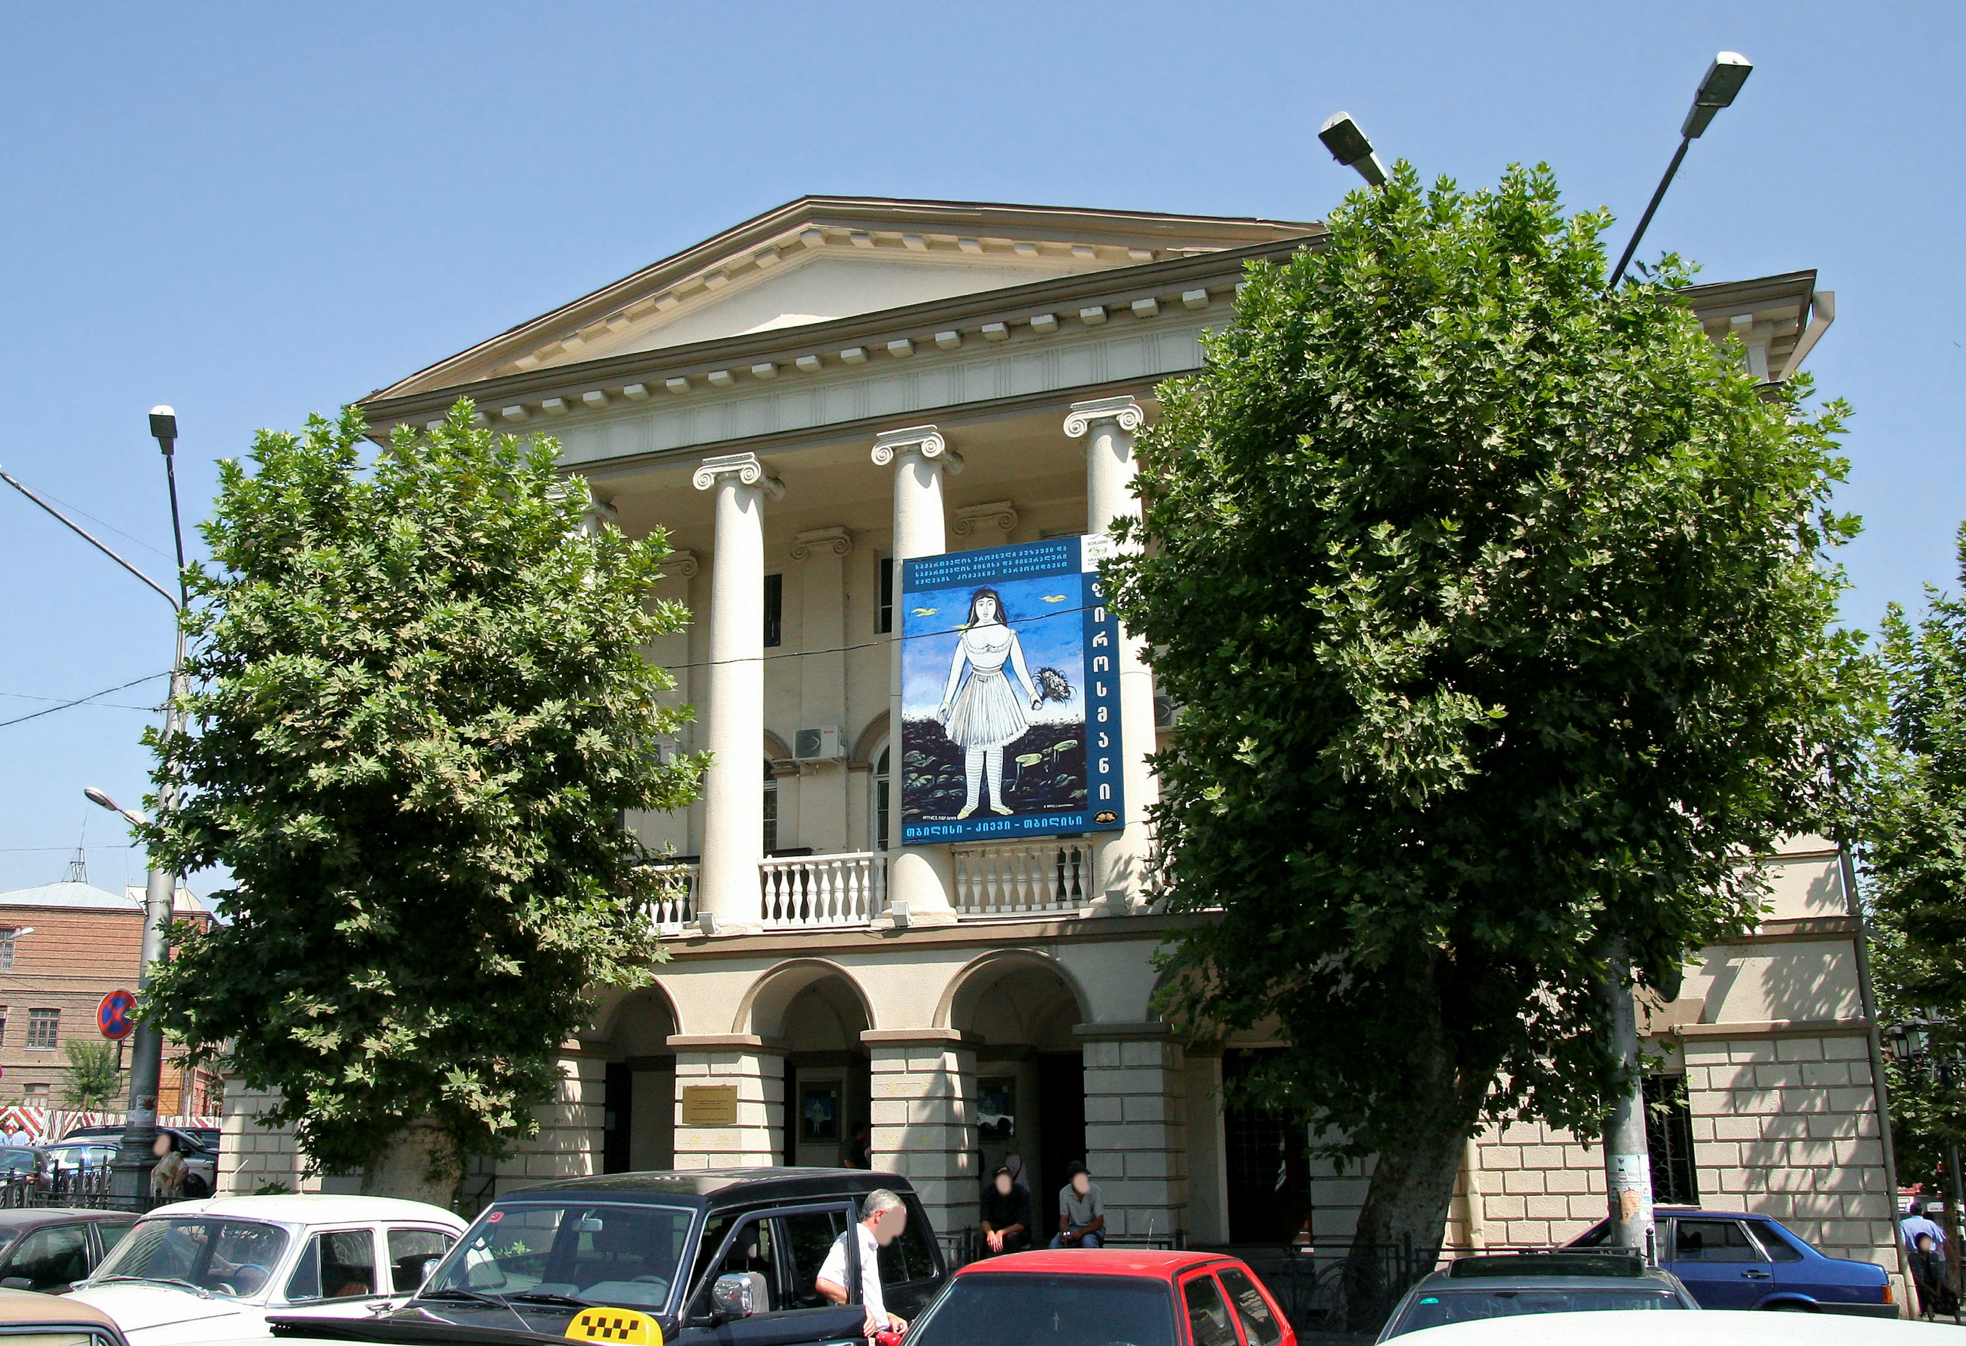
M902 845L1123 827L1119 623L1085 538L900 568Z

